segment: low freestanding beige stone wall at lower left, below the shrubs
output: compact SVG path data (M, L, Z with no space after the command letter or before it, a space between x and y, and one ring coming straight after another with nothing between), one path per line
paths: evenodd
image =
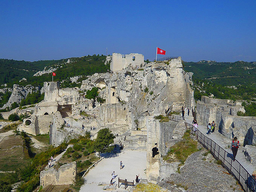
M73 184L76 180L76 161L62 165L59 170L55 168L41 171L40 185L43 187L52 184L55 185L69 185Z

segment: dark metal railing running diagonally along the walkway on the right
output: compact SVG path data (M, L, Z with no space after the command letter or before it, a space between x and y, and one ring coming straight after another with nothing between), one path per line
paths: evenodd
M197 140L208 150L211 151L213 157L221 161L222 166L235 177L235 179L240 183L242 189L246 192L252 191L256 192L256 180L251 176L248 171L235 159L232 160L232 154L228 153L225 149L216 144L213 140L206 137L198 129L194 132L194 126L186 123L185 125L190 129L191 133L197 135Z

